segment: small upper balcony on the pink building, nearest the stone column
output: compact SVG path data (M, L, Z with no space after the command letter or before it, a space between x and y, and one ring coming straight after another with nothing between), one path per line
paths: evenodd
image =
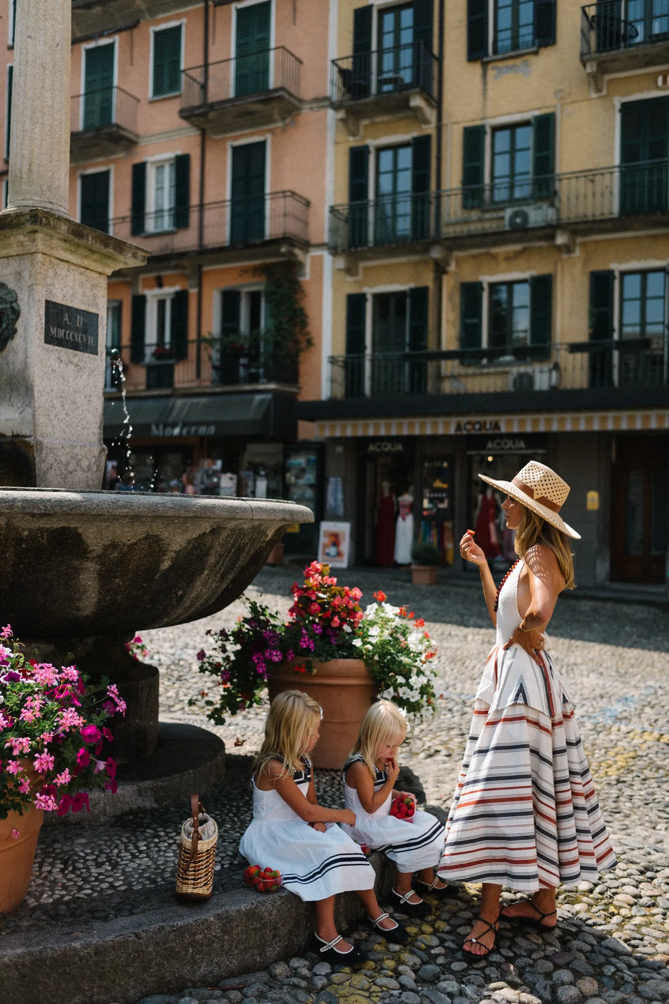
M125 154L137 143L139 98L122 87L103 87L70 98L72 164Z

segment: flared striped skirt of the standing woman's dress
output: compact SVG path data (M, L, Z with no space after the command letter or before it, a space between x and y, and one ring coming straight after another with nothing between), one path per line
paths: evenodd
M523 893L616 863L574 705L547 652L495 646L485 666L438 872Z

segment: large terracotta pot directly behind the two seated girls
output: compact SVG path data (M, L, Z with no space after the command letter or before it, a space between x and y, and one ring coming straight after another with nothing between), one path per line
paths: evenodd
M282 663L268 681L270 701L286 690L301 690L323 709L320 738L311 754L314 767L341 768L358 738L360 722L376 696L376 684L361 659L314 663L312 673L296 673Z

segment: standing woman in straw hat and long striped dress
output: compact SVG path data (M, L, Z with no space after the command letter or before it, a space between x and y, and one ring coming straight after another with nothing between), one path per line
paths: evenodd
M568 538L580 537L560 515L569 485L534 460L511 482L479 477L508 496L503 509L518 531L519 560L495 590L472 534L460 541L462 557L478 565L496 640L476 692L438 870L482 883L480 914L463 945L482 957L499 916L553 928L557 887L596 881L616 858L574 706L546 651L558 595L574 587ZM503 886L530 898L500 915Z

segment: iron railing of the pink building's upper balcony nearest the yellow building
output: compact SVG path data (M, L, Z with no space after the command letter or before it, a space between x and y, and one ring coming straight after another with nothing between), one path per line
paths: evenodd
M300 97L302 60L283 45L184 70L182 110L285 90Z

